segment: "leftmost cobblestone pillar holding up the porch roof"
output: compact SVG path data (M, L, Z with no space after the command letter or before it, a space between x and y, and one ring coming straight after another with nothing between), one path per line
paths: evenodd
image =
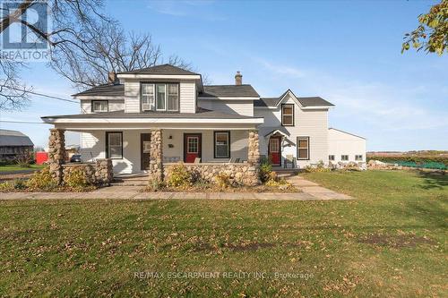
M48 139L48 163L50 173L57 184L62 184L63 167L65 164L65 130L50 129Z

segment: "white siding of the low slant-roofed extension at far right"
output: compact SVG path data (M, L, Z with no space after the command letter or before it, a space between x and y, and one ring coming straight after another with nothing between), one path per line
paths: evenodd
M348 155L349 161L355 162L360 162L360 160L355 160L355 155L362 155L362 161L366 162L366 139L331 128L328 130L328 140L328 154L334 155L334 161L332 163L342 161L340 158L341 155Z

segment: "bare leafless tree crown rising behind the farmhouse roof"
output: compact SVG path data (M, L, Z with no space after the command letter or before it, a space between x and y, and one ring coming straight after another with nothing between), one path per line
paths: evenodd
M116 21L102 22L83 37L89 43L65 44L56 47L51 66L77 89L108 82L108 72L127 72L164 63L159 45L150 34L126 34ZM168 57L168 63L191 70L192 66L178 56Z

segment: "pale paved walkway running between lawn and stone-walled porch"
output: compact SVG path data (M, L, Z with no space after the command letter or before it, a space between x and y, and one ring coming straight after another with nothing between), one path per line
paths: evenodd
M302 192L141 192L142 186L113 185L93 192L8 192L0 200L112 199L112 200L353 200L301 177L287 179Z

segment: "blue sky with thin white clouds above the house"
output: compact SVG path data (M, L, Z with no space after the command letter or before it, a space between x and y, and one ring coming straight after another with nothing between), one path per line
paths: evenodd
M125 30L149 32L165 55L194 64L213 84L237 71L262 96L292 89L336 105L330 126L367 139L368 150L448 149L448 55L409 51L403 34L432 1L108 1ZM38 92L69 98L69 82L32 64ZM79 113L79 106L33 98L2 120ZM47 143L48 125L0 123ZM75 135L68 143L79 142Z

